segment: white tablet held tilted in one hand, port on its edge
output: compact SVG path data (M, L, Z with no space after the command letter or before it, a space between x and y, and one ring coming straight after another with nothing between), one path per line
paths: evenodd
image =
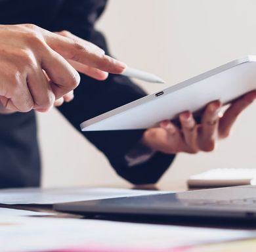
M228 104L256 89L256 55L245 56L144 96L81 123L82 131L148 129L175 119L184 111L197 112L213 100Z

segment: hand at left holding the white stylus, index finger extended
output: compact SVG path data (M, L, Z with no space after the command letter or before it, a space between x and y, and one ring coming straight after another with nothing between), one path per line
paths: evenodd
M125 69L91 43L32 24L1 25L0 45L0 113L46 112L72 93L80 78L68 60L87 68L85 74L95 71L97 79Z

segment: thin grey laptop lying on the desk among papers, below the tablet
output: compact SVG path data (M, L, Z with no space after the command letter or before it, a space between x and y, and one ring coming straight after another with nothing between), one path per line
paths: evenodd
M85 216L200 217L256 220L256 186L160 192L104 200L58 203L56 211Z

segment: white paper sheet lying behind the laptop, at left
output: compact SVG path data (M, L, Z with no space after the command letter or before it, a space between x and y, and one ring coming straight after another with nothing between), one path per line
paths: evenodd
M54 204L164 193L117 188L22 188L0 190L1 204Z

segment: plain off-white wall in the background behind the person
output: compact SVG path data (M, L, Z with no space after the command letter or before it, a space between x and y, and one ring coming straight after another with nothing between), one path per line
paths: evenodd
M256 54L255 11L254 0L111 0L97 26L117 58L173 85ZM140 84L149 93L162 88ZM179 154L160 183L214 167L256 167L255 114L254 104L215 152ZM40 114L39 125L43 186L126 184L58 112Z

